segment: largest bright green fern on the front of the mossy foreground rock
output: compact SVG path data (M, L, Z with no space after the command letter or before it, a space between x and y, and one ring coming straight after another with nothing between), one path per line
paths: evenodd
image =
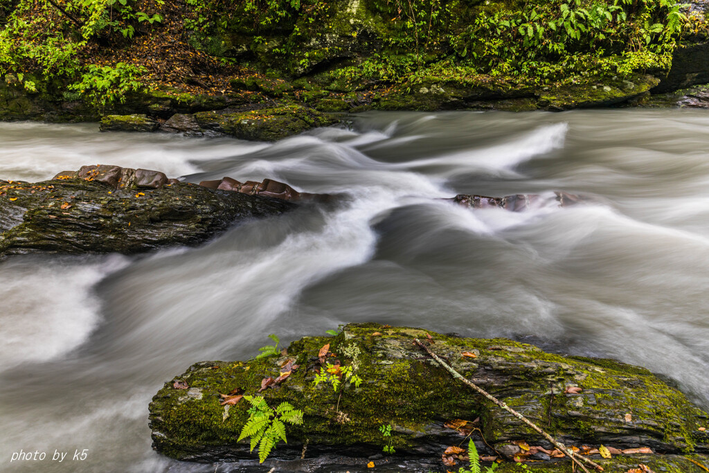
M303 423L303 411L294 408L287 402L281 402L277 408L266 404L262 396L244 396L250 402L248 410L249 420L241 429L238 440L251 438L251 452L258 445L259 463L263 463L279 440L286 440L286 422L291 424Z

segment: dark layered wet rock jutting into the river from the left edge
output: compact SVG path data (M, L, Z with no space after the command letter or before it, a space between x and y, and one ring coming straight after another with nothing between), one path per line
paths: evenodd
M245 219L291 208L286 201L207 189L148 169L84 166L45 182L0 180L0 256L196 245Z

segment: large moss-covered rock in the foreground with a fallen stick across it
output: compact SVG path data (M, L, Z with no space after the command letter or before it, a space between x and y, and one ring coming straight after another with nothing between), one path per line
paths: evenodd
M481 455L505 459L498 472L520 471L510 461L524 456L515 442L553 450L535 431L455 381L413 344L414 338L430 343L464 377L566 445L642 449L609 460L592 454L605 472L627 472L644 464L658 473L700 473L705 469L697 462L709 464L707 413L647 369L553 355L512 340L461 338L376 323L346 325L334 337L304 337L270 357L189 367L152 399L153 447L177 460L239 462L244 472L273 467L292 472L457 471L467 462L454 458L457 465L445 465L442 454L450 445L465 447L462 434L470 432ZM322 357L328 344L324 351L329 353ZM240 390L257 394L262 380L279 377L289 360L299 367L262 395L272 407L288 401L301 409L303 424L287 425L288 443L279 443L259 466L248 440L236 440L250 405L243 399L223 405L221 395ZM358 388L345 382L339 398L330 384L313 383L323 362L338 361L354 367L363 379ZM469 421L467 432L455 428L461 419ZM394 455L382 452L386 440L381 425L392 425ZM540 452L525 460L537 460L527 462L529 472L571 471L569 460ZM374 462L374 470L367 469L368 462Z

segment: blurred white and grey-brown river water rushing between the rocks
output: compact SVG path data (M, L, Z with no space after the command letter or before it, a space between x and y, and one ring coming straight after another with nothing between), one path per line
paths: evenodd
M275 144L96 128L0 123L0 177L101 163L348 197L196 248L0 262L1 471L214 471L152 452L162 383L252 357L268 333L347 322L614 357L709 407L704 112L367 113ZM595 199L525 213L437 200L553 190ZM11 463L21 450L45 460Z

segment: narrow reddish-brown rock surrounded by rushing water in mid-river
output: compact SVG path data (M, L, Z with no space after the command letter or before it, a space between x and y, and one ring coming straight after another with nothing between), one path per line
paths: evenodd
M468 208L504 208L512 212L520 212L530 210L532 208L540 208L548 206L556 201L560 207L568 207L579 204L580 202L591 201L588 197L569 194L568 192L556 191L550 194L515 194L513 196L504 197L489 197L479 196L474 194L458 194L452 199L453 201Z

